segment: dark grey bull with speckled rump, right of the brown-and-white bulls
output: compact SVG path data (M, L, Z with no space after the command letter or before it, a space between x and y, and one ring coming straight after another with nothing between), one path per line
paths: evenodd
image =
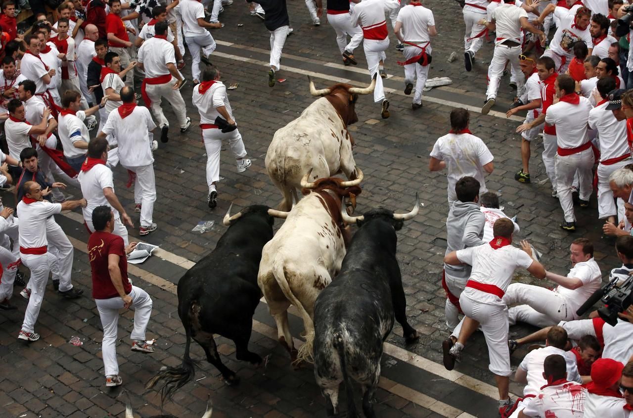
M382 343L395 319L407 343L418 333L406 320L406 300L398 260L396 231L417 215L420 201L409 213L399 215L375 209L347 224L360 225L343 260L341 272L318 295L314 309L313 353L316 383L325 396L327 414L338 413L339 385L344 382L348 417L356 418L352 379L363 386L363 412L373 418L372 400L380 378Z

